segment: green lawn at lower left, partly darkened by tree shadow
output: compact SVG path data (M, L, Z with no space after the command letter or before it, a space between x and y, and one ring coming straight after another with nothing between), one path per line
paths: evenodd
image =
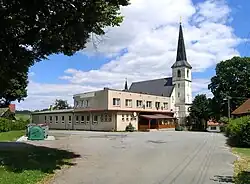
M46 183L55 170L79 157L66 150L8 142L21 135L24 131L0 133L0 184Z

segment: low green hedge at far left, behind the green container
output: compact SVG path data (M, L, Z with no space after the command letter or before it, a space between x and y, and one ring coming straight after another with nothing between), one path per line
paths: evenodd
M9 120L0 118L0 132L8 132L11 130L25 130L29 120Z

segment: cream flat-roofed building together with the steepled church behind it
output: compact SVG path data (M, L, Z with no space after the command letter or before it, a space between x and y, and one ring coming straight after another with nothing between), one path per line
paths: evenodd
M123 90L75 94L74 108L35 112L33 123L51 129L124 131L175 128L185 124L192 104L192 66L187 61L182 25L172 77L133 82Z

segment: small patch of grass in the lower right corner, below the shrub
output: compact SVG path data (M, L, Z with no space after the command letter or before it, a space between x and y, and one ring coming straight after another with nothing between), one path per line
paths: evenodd
M233 152L240 156L235 162L236 184L250 183L250 148L233 148Z

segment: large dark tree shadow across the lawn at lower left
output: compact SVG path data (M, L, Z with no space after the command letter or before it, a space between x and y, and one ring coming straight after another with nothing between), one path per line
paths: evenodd
M0 167L12 172L40 170L53 173L63 165L74 165L70 159L80 155L67 150L35 146L21 142L0 142Z

